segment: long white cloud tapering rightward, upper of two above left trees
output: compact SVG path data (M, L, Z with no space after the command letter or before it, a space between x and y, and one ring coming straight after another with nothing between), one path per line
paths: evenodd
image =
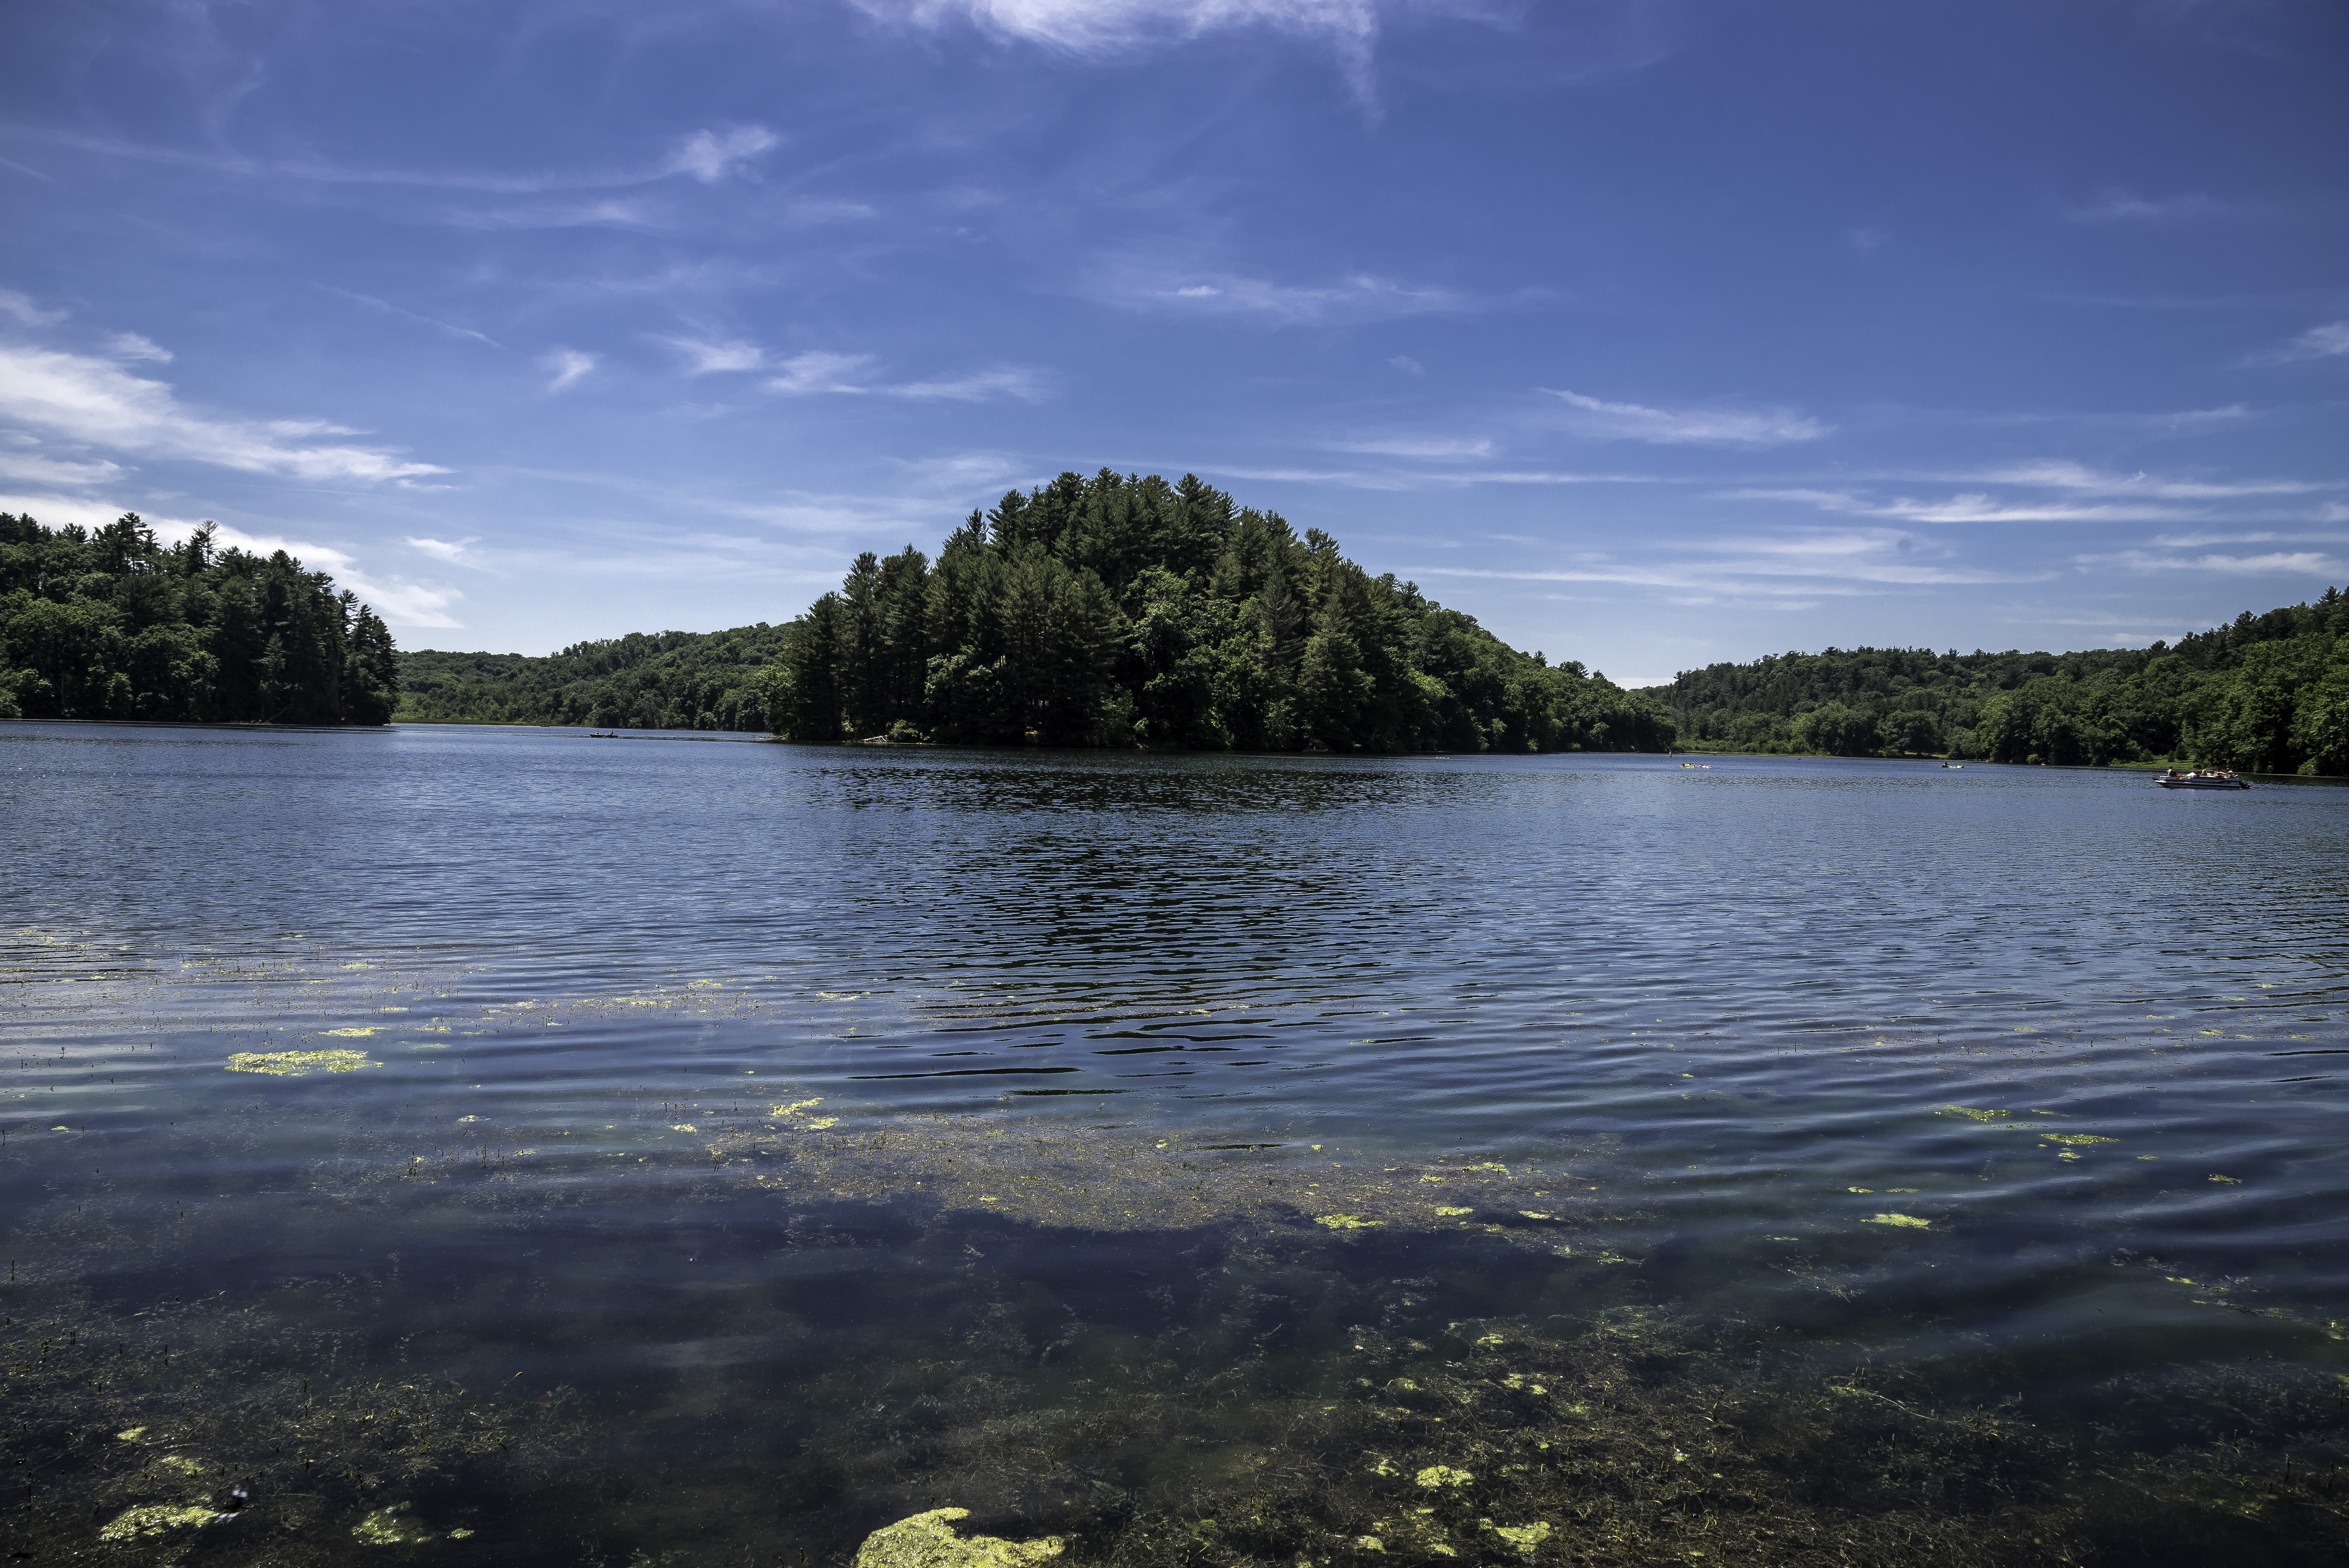
M296 479L406 479L446 474L381 446L322 444L357 434L319 420L216 420L186 408L167 383L110 359L0 345L0 420L66 441L150 458L214 462Z

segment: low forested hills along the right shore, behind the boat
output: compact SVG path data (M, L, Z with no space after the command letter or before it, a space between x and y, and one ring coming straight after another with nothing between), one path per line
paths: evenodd
M1828 648L1651 695L1684 749L2349 775L2349 596L2126 653Z

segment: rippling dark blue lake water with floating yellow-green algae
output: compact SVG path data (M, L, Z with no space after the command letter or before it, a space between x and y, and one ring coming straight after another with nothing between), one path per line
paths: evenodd
M16 1561L2349 1545L2342 789L12 723L0 812Z

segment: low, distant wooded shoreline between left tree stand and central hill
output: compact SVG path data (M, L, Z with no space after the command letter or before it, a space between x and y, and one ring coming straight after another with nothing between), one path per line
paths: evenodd
M409 723L554 723L632 730L766 730L761 681L785 627L630 631L557 655L402 653Z

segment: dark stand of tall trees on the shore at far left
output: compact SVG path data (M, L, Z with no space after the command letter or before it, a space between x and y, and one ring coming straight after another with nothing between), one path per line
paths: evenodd
M282 549L0 512L0 718L378 725L397 685L383 620Z

